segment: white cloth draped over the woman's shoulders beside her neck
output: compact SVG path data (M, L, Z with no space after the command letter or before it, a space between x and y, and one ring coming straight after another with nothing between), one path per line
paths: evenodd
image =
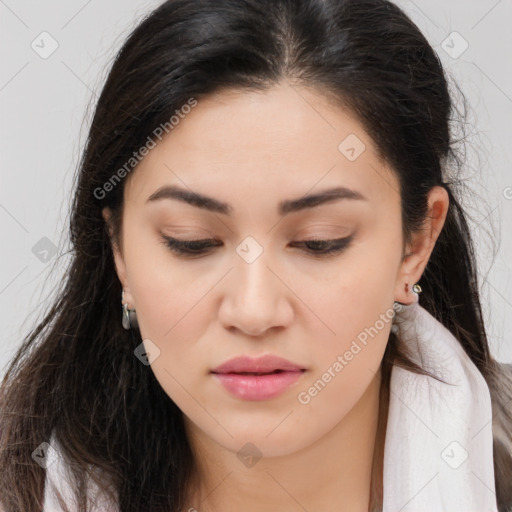
M393 330L414 362L453 386L393 367L383 512L498 512L489 388L457 339L413 296L396 311ZM55 490L73 501L56 440L47 459L43 512L62 512ZM98 500L94 511L117 510L96 487L91 499Z

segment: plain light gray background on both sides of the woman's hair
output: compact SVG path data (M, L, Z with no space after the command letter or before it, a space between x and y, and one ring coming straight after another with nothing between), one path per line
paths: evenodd
M159 3L0 0L0 376L68 262L73 173L109 64ZM512 362L512 0L397 3L469 102L465 175L474 196L463 204L491 350Z

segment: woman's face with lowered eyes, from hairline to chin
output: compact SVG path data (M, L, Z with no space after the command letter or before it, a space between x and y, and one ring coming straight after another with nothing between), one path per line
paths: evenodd
M362 125L311 90L222 92L186 111L127 178L125 301L189 426L232 451L291 453L343 420L379 370L404 301L399 184ZM187 256L166 237L214 245ZM322 255L329 244L304 243L315 239L342 242ZM304 371L212 373L266 354Z

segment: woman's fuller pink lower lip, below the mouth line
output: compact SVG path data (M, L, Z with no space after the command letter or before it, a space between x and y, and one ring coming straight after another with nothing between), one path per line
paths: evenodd
M280 395L297 382L304 371L286 371L266 375L214 373L220 383L233 395L243 400L268 400Z

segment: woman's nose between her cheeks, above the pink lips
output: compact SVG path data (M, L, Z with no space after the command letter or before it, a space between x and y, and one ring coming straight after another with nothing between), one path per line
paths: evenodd
M284 276L268 267L264 254L252 263L238 261L230 272L219 320L226 329L261 336L272 328L283 328L293 320L292 295Z

